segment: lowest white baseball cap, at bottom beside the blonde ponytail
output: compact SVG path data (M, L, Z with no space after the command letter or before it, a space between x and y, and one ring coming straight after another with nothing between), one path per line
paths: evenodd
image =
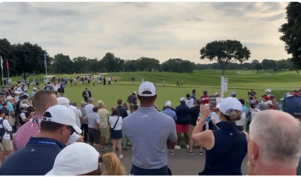
M46 176L83 175L98 170L99 157L99 152L93 146L72 143L57 154L52 170Z

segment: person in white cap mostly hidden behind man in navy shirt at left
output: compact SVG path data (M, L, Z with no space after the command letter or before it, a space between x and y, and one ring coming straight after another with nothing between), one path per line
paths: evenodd
M76 125L80 128L81 124L80 124L80 117L82 117L82 112L77 109L75 106L71 105L71 102L69 101L69 99L67 99L66 97L59 97L57 98L57 104L58 105L63 105L66 106L70 109L72 109L72 111L75 114L76 117ZM68 141L68 144L72 144L74 142L83 142L83 138L82 135L76 134L75 132L70 136L70 139Z

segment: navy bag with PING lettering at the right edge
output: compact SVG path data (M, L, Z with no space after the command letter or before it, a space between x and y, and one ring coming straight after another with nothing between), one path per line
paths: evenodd
M282 111L296 117L301 116L301 96L285 96L281 102Z

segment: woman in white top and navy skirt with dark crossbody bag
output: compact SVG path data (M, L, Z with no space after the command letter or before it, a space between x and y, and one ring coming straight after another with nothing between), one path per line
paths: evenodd
M113 140L113 152L116 151L116 145L118 145L119 159L123 158L121 154L121 138L122 138L122 117L119 114L118 109L114 109L109 117L111 140Z

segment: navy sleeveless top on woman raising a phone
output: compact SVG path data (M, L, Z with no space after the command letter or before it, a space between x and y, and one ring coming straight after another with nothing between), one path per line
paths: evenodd
M241 163L247 155L246 135L237 130L235 122L219 122L219 127L219 130L212 130L214 147L206 150L205 167L210 165L211 170L204 171L202 175L242 175ZM235 145L232 146L236 139ZM231 151L225 154L231 146ZM223 156L225 157L215 166L211 165Z

